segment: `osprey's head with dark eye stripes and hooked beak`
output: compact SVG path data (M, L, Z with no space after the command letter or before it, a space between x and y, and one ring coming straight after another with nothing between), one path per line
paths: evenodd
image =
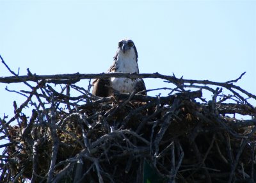
M120 40L118 42L118 51L119 54L135 54L136 61L138 60L138 52L134 45L134 42L129 39Z

